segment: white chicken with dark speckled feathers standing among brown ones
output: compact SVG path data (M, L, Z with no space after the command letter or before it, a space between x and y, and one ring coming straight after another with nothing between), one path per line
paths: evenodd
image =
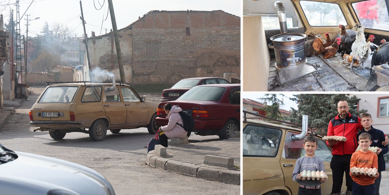
M371 53L370 49L370 40L372 41L374 39L374 35L370 35L368 39L368 42L366 43L365 38L364 38L364 28L361 24L357 24L352 28L356 32L356 37L355 41L351 46L351 51L352 51L352 62L349 66L349 68L352 68L352 65L354 62L358 62L359 64L364 63L364 61L369 58L369 55Z

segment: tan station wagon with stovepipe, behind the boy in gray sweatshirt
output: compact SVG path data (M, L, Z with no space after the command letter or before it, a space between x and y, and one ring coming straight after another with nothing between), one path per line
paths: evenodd
M305 155L303 139L311 132L307 132L307 128L304 131L253 120L261 115L243 112L243 194L297 195L299 184L292 179L293 169L296 160ZM324 172L328 175L327 181L321 185L321 194L329 195L332 190L331 149L320 135L314 135L318 139L315 155L323 160ZM345 177L342 191L346 191Z

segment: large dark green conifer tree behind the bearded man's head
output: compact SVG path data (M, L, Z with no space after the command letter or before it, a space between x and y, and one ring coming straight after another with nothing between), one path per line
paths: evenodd
M347 94L298 94L290 98L298 104L298 110L292 109L289 120L292 123L301 124L303 115L308 115L308 125L320 131L327 132L329 121L338 115L338 102L346 100L349 103L349 112L353 115L359 115L366 110L357 112L356 105L359 98L349 97Z

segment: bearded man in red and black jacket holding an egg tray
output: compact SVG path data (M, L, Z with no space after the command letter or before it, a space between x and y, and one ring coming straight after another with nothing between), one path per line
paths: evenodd
M346 137L347 141L328 141L328 146L332 148L332 192L331 195L341 195L343 173L346 173L347 195L352 194L352 179L350 177L350 160L352 153L358 146L358 129L363 130L361 118L349 113L349 103L346 100L338 102L338 115L331 119L328 124L327 136L336 135ZM385 137L386 145L388 137Z

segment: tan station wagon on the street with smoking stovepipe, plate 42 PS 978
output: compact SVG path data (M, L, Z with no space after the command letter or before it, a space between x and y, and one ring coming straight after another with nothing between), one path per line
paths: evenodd
M126 84L53 84L32 106L30 124L40 127L34 131L48 131L53 139L83 132L93 141L102 141L107 129L119 133L121 129L147 127L152 134L156 131L157 107Z

